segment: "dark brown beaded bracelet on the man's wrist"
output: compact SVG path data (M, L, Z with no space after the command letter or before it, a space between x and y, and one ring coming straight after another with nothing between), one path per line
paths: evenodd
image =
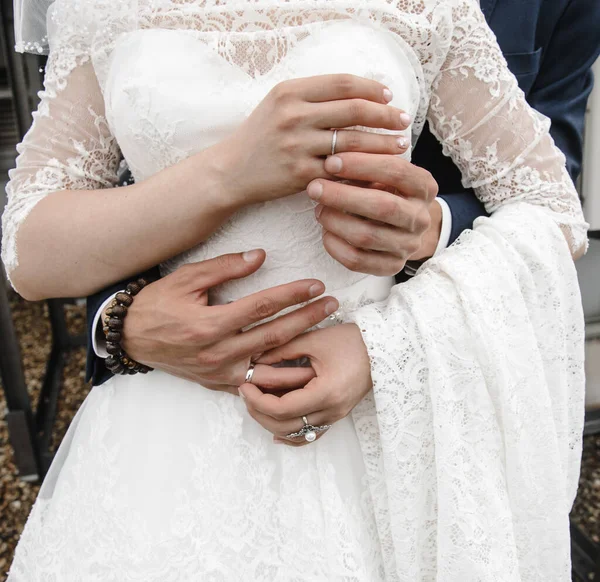
M146 374L154 369L136 362L121 347L123 320L127 315L127 308L131 306L133 298L146 285L144 279L129 283L125 291L115 295L106 309L103 330L106 336L106 351L110 355L104 360L104 364L113 374L137 374L138 372Z

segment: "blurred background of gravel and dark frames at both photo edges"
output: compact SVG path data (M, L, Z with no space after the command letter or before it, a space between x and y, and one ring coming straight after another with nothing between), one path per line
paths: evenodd
M0 211L15 146L31 124L44 57L13 51L12 0L0 0ZM600 62L596 63L597 79ZM597 85L600 85L598 83ZM578 273L586 315L586 425L579 493L571 514L573 580L600 581L600 86L589 101L578 184L592 226ZM596 192L594 192L596 190ZM592 195L594 193L594 195ZM89 386L84 380L85 304L28 303L0 265L0 581L40 480Z

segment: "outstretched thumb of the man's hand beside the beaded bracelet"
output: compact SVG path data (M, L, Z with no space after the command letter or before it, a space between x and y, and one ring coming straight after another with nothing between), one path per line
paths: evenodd
M210 289L233 279L252 275L265 262L266 253L262 249L245 253L220 255L186 267L186 283L194 290Z

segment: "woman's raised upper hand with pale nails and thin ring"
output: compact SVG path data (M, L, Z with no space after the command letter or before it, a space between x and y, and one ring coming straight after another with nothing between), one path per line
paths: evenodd
M365 126L404 130L410 116L387 103L381 83L353 75L324 75L276 85L228 139L214 147L226 179L235 185L233 206L281 198L328 178L324 157L331 154L331 128ZM345 130L336 151L401 154L410 140Z

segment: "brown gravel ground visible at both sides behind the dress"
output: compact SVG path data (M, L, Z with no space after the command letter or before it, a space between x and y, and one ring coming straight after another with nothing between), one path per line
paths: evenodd
M21 344L27 388L33 402L37 402L50 351L48 314L43 303L27 303L14 293L10 295L10 302ZM69 305L65 310L69 331L82 333L85 328L85 309ZM52 441L54 447L60 443L88 393L84 369L85 350L79 348L72 352L65 367ZM8 570L15 544L39 489L36 484L18 479L3 420L5 412L4 393L0 391L0 581L5 580L4 572ZM579 494L572 516L592 540L600 543L600 435L584 440Z

